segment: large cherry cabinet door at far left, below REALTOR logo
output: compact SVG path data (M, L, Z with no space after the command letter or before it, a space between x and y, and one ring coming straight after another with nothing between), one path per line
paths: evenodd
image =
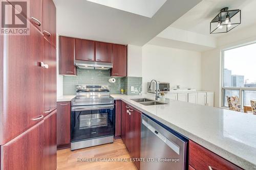
M44 40L30 23L30 35L5 36L3 60L3 144L42 120ZM1 96L2 98L2 96ZM15 126L14 126L15 125ZM1 139L0 139L1 140Z

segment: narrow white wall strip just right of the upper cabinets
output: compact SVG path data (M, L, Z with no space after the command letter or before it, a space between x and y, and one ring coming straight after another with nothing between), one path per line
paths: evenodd
M127 46L127 76L142 77L142 46Z

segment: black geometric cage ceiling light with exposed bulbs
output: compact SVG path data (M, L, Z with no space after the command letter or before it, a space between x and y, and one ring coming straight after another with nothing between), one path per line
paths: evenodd
M221 9L210 22L210 34L227 33L241 24L241 10Z

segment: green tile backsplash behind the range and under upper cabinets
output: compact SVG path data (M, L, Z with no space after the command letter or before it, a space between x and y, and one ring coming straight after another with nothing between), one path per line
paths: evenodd
M77 76L63 76L63 94L76 94L77 84L109 84L111 85L111 94L120 94L121 88L123 88L128 95L138 95L142 92L141 77L115 78L115 83L110 83L109 79L110 70L77 69ZM134 91L131 91L131 86L134 87Z

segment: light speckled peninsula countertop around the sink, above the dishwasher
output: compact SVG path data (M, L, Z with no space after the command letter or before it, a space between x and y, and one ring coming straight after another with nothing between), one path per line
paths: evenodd
M256 169L256 115L169 100L166 105L144 106L131 99L154 99L150 94L112 94L115 100L157 119L208 150L244 168Z

